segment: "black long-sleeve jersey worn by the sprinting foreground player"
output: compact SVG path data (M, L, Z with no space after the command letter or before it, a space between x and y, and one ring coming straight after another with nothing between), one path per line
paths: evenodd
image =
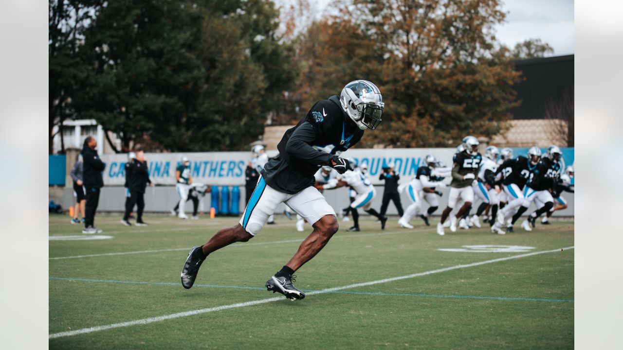
M313 105L296 126L289 129L277 145L278 156L269 159L262 177L270 187L295 194L313 186L314 174L331 165L333 156L358 143L363 136L333 95Z

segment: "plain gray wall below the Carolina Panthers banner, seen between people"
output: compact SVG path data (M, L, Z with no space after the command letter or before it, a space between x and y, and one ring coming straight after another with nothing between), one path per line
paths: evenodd
M381 202L383 199L383 186L375 186L375 187L376 187L376 197L373 200L372 207L378 211L380 210ZM114 186L103 187L102 194L100 195L100 203L98 206L98 210L108 211L108 212L123 211L123 204L125 203L125 191L126 191L125 187L114 187ZM448 191L450 190L444 189L442 191L444 192L444 196L440 198L440 201L439 201L440 209L437 209L435 214L439 215L441 213L441 210L446 206L447 199L448 199ZM244 187L240 186L240 212L244 210L244 200L245 200L244 192L245 192ZM348 199L348 189L344 187L335 189L335 190L325 191L324 195L326 197L326 200L329 202L329 204L331 204L331 206L333 206L336 212L338 212L340 208L347 207L348 204L350 203ZM573 193L563 192L563 197L568 202L569 207L565 210L554 212L554 215L573 216L573 213L574 213L574 206L573 206L574 197L573 196L574 196ZM177 201L179 201L179 196L177 192L175 191L174 186L156 186L156 187L153 187L153 192L152 192L152 188L148 187L145 192L145 211L146 212L169 212L175 206ZM63 209L68 209L69 206L72 206L75 204L73 189L67 188L67 187L64 188L62 202L63 202L62 204ZM406 208L407 206L409 206L409 204L411 204L411 201L409 200L409 198L407 197L407 194L405 193L401 194L401 202L402 202L403 208ZM209 210L210 203L211 203L210 196L209 194L207 194L206 197L204 198L206 212ZM426 205L426 202L424 206L428 207ZM535 207L534 204L532 207ZM192 208L193 208L192 202L186 203L187 213L192 212ZM277 209L277 213L280 213L282 211L283 211L283 205L282 207L279 207ZM359 212L361 212L361 210L359 210ZM388 214L389 215L397 214L396 207L394 207L394 205L391 202L388 207Z

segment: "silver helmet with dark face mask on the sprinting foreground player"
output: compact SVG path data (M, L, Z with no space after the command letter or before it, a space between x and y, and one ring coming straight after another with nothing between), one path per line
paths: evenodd
M385 103L381 91L368 80L354 80L340 93L340 103L359 129L376 129L381 123Z

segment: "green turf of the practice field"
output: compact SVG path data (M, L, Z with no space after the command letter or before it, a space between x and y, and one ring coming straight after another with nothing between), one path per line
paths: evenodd
M178 220L148 216L150 227L96 219L108 240L50 240L49 333L105 326L277 296L265 281L308 232L277 217L248 244L212 254L191 290L179 283L189 248L237 218ZM442 252L463 245L523 245L530 252L573 246L573 222L493 235L447 230L414 220L386 230L363 220L338 232L296 274L306 291L383 280L525 253ZM343 223L342 229L350 227ZM436 222L435 222L436 224ZM50 216L50 235L82 235L69 218ZM306 229L310 231L310 226ZM290 242L283 242L290 241ZM101 253L167 252L60 258ZM150 324L50 339L52 349L569 349L573 348L574 250L556 251L335 293L310 295ZM57 279L59 278L59 279ZM141 282L141 283L138 283ZM219 288L221 286L221 288ZM222 288L234 287L234 288Z

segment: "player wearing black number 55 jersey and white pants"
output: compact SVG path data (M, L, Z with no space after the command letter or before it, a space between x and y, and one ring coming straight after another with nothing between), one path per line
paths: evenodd
M452 166L452 182L450 182L450 194L448 194L448 206L441 214L441 222L437 224L437 234L444 235L444 222L452 209L456 206L457 201L462 199L463 206L455 217L450 220L450 230L457 230L456 220L462 217L472 207L473 188L472 181L478 174L478 167L482 161L482 156L478 153L478 139L473 136L465 136L463 138L464 151L456 154L454 157L454 165Z

